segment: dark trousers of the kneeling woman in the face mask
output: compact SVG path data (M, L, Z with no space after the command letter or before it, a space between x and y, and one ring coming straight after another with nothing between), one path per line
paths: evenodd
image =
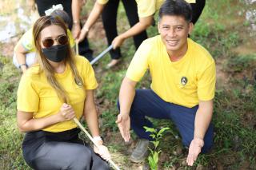
M79 132L27 132L22 143L26 164L37 170L109 170L106 161L78 138Z

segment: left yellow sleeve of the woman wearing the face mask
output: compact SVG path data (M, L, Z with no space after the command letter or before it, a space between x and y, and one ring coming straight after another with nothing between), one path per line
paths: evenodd
M22 75L18 85L17 109L23 112L38 112L39 97L30 76Z

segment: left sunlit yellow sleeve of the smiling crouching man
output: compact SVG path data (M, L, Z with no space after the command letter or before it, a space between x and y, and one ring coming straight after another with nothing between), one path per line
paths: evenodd
M126 72L126 77L130 80L138 82L146 73L149 68L150 49L148 42L142 42L142 45L137 49Z

